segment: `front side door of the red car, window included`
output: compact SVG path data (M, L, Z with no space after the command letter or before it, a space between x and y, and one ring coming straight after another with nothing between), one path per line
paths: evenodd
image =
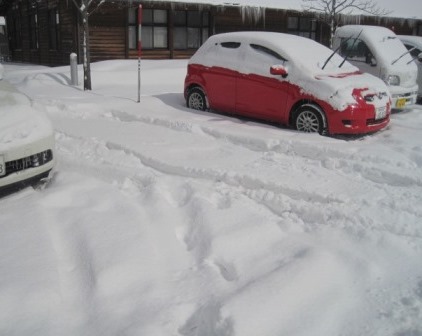
M290 84L281 76L270 74L271 66L285 62L285 58L265 46L244 46L236 85L238 114L285 121Z

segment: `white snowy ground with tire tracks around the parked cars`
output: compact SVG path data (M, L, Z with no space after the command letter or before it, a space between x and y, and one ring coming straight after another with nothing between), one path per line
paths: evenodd
M421 336L422 107L329 138L184 106L186 61L6 65L51 184L0 199L1 335ZM81 74L80 74L81 76Z

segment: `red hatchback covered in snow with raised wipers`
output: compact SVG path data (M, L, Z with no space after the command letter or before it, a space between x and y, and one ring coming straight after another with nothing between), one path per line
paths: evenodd
M187 106L320 134L362 134L389 123L385 83L329 48L272 32L211 36L188 63Z

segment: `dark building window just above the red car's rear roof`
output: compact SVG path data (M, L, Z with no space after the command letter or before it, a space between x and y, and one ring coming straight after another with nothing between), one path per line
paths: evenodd
M198 49L209 35L209 13L174 12L174 49Z

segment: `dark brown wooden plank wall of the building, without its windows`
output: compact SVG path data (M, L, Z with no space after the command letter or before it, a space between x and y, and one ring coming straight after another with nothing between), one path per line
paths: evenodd
M210 35L240 30L265 30L287 33L287 18L289 16L305 16L308 14L278 9L266 9L265 19L255 15L253 10L245 10L238 6L211 6L197 4L183 4L167 1L142 1L144 8L167 9L171 16L173 10L206 10L211 13ZM72 52L78 54L79 62L82 62L82 28L80 15L73 4L73 1L63 0L38 0L38 41L39 48L30 48L29 12L32 0L15 0L13 5L18 5L22 25L22 48L12 50L12 59L17 62L30 62L44 65L66 65L69 64L69 56ZM57 50L49 49L49 26L48 10L58 7L60 13L59 36L60 43ZM133 4L133 6L137 6ZM9 8L9 20L13 16ZM91 61L108 59L124 59L138 57L136 50L128 48L128 6L119 2L103 4L89 18L90 21L90 46ZM172 26L169 17L169 42L172 41ZM317 21L318 22L318 21ZM397 34L412 35L422 20L405 20L391 18L362 17L361 24L381 25L394 30ZM329 28L326 24L318 22L317 41L328 45ZM168 58L189 58L195 50L173 50L170 45L163 50L145 50L142 57L145 59L168 59Z

